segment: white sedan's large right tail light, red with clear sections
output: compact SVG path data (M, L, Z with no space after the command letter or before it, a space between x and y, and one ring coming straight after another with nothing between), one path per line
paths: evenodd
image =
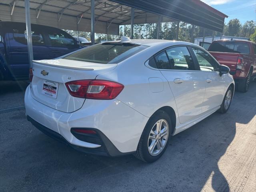
M76 80L66 83L70 95L87 99L111 100L120 94L124 86L106 80Z

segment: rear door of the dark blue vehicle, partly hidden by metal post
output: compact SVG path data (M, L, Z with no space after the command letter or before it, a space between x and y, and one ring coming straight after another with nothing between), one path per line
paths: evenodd
M26 25L20 23L11 27L8 30L8 64L13 76L24 78L28 76L29 69ZM45 45L40 29L32 25L31 30L34 60L49 59L50 50Z

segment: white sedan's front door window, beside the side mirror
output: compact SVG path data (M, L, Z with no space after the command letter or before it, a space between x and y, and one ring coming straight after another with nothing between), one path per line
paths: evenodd
M210 56L210 54L206 53L205 51L192 48L194 54L196 55L196 59L200 66L201 71L218 71L218 64L216 61Z

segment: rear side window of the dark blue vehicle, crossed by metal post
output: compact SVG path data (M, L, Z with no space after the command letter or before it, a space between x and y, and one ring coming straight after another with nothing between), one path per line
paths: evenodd
M40 32L32 31L31 33L32 33L32 44L33 45L44 45L44 38ZM22 44L27 44L28 36L27 36L26 30L24 30L22 28L14 29L13 37L14 37L15 41L22 43Z

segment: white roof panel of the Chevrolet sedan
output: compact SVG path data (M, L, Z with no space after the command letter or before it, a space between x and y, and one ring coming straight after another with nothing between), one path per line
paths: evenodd
M162 39L131 39L128 41L117 40L113 42L132 43L132 44L139 44L139 45L145 45L145 46L156 46L159 44L168 44L170 46L176 45L176 44L196 46L196 44L189 43L189 42L175 41L175 40L162 40Z

